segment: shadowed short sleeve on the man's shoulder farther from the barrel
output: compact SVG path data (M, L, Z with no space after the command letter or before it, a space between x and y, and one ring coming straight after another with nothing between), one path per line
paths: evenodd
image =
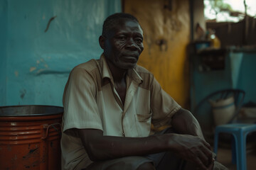
M150 108L152 111L152 124L154 128L168 125L172 116L181 108L169 94L166 93L156 79L151 81Z

